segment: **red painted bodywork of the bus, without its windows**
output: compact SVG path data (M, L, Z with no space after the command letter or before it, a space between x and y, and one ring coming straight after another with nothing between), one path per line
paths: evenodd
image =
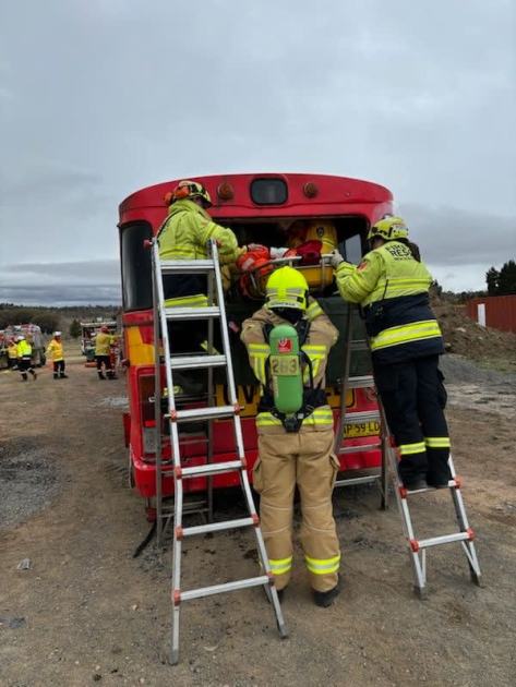
M259 205L250 197L251 184L255 180L280 179L288 189L288 198L283 205ZM361 240L364 245L364 233L371 224L374 224L386 213L392 213L391 192L375 183L333 177L324 174L224 174L212 177L193 177L192 180L201 182L209 192L213 207L209 214L214 220L227 226L249 222L267 222L289 218L311 219L331 217L338 219L358 218L363 225ZM123 232L134 226L141 225L148 228L149 236L156 234L167 216L167 206L164 196L171 191L179 180L159 183L142 189L128 196L120 204L119 228L121 237ZM226 191L230 186L232 197L223 200L219 191L226 184ZM311 192L315 188L315 195L307 194L308 184L312 184ZM263 236L266 241L266 236ZM143 241L142 241L143 244ZM122 257L123 257L123 251ZM122 264L122 282L124 278L124 265ZM124 291L125 293L125 291ZM343 301L344 303L344 301ZM250 312L260 308L259 302L250 304ZM229 308L228 308L229 310ZM344 312L344 311L343 311ZM343 314L338 315L341 320ZM152 498L156 493L154 469L154 328L153 312L151 306L144 309L127 309L123 314L124 351L128 365L128 394L129 419L125 419L125 432L129 437L129 449L132 463L133 482L139 493L145 498ZM243 354L243 353L240 353ZM245 361L247 364L247 354ZM165 379L163 377L163 385ZM244 438L248 470L251 474L256 459L256 429L254 417L259 386L255 379L250 384L238 384L239 400L243 406L241 413L242 432ZM334 411L335 426L339 417L338 388L327 388L328 402ZM216 398L219 403L226 402L224 385L216 387ZM374 410L375 402L373 389L355 389L348 393L346 399L347 410ZM215 461L235 459L235 444L232 423L230 421L216 421L214 423L214 457ZM363 426L349 427L351 435L346 439L347 446L356 446L357 451L339 456L343 470L369 470L377 468L381 461L379 449L363 449L360 446L374 443L377 438L377 425L369 423ZM184 466L202 465L206 461L205 444L189 441L181 454ZM170 445L164 443L164 459L170 458ZM163 480L164 495L173 493L173 478L171 468L165 468ZM237 474L221 474L214 478L215 487L236 486ZM203 491L206 489L206 480L196 478L184 481L185 492Z

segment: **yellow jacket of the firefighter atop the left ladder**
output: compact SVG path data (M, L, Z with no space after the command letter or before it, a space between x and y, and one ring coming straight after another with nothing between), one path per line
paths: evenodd
M187 198L170 205L169 216L158 234L161 260L203 260L207 257L206 244L217 241L221 265L235 263L241 253L237 237L226 227L217 225L208 213ZM166 297L168 306L203 306L207 298L200 291L197 277L167 277L173 284L173 298ZM177 292L177 296L176 296Z

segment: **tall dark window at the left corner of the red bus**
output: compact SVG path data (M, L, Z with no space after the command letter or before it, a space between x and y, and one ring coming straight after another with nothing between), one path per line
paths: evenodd
M145 239L152 236L151 225L146 221L135 221L120 229L124 310L148 310L153 306L151 251L143 245Z

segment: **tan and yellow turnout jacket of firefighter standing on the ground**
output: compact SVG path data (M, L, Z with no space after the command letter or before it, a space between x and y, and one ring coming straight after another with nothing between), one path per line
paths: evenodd
M268 372L271 346L268 332L279 324L288 324L271 310L262 308L242 324L241 339L256 378L262 384L262 401L256 415L259 434L284 434L281 413L274 408L272 377ZM333 427L332 409L326 402L325 372L329 349L337 341L338 332L312 299L304 316L296 327L300 334L300 349L310 363L301 359L304 410L296 431L317 432Z

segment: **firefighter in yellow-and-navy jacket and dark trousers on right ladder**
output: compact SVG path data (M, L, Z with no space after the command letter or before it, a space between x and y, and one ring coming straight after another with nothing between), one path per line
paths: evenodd
M404 485L444 487L451 479L449 435L439 370L443 337L429 302L432 276L400 217L382 218L368 240L372 250L358 266L334 253L338 290L362 306L374 379L399 449Z

